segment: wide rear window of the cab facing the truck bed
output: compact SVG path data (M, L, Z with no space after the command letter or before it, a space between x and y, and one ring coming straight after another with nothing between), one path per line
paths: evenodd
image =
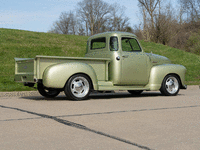
M91 41L91 50L103 49L106 47L106 38L97 38Z

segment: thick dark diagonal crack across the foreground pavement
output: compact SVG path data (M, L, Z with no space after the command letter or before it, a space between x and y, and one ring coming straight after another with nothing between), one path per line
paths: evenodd
M78 123L74 123L74 122L71 122L71 121L68 121L68 120L63 120L63 119L57 118L55 116L39 114L39 113L35 113L35 112L31 112L31 111L27 111L27 110L23 110L23 109L19 109L19 108L14 108L14 107L3 106L3 105L0 105L0 107L1 108L6 108L6 109L13 109L13 110L25 112L25 113L28 113L28 114L32 114L32 115L37 115L37 116L40 116L42 118L52 119L52 120L55 120L55 121L57 121L57 122L59 122L61 124L64 124L64 125L67 125L67 126L70 126L70 127L74 127L74 128L77 128L77 129L89 131L89 132L92 132L92 133L96 133L96 134L99 134L99 135L102 135L102 136L105 136L105 137L108 137L108 138L111 138L111 139L114 139L114 140L118 140L120 142L124 142L126 144L130 144L130 145L136 146L136 147L144 149L144 150L152 150L149 147L142 146L142 145L139 145L137 143L133 143L131 141L128 141L128 140L125 140L125 139L122 139L122 138L119 138L119 137L116 137L116 136L113 136L113 135L109 135L109 134L101 132L101 131L96 131L96 130L90 129L90 128L84 126L84 125L81 125L81 124L78 124Z

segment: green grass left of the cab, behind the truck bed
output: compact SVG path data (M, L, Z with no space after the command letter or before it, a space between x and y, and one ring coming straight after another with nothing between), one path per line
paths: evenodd
M15 57L34 58L36 55L85 55L88 37L58 35L0 28L0 91L27 91L32 88L14 82Z

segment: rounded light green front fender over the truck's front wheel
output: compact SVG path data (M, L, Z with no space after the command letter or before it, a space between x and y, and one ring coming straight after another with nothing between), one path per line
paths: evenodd
M177 75L180 78L181 84L184 85L185 72L186 72L186 68L182 65L163 64L163 65L154 66L151 68L148 86L150 90L159 90L161 88L163 79L168 74Z

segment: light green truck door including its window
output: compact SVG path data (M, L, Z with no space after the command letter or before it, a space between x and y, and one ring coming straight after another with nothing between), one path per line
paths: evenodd
M148 56L142 52L135 38L121 38L121 85L146 85L149 71Z

